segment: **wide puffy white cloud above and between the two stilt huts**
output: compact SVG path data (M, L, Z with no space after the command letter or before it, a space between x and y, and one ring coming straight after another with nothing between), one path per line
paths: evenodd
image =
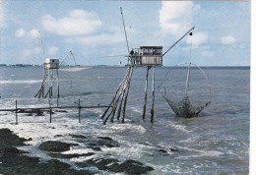
M90 34L101 26L96 13L84 10L73 10L62 19L44 15L41 23L44 29L59 35Z

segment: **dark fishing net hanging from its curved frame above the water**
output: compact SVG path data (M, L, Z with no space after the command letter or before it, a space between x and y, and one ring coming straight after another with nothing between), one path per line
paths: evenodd
M169 69L159 89L163 99L178 117L198 117L211 103L208 78L200 67L191 63Z

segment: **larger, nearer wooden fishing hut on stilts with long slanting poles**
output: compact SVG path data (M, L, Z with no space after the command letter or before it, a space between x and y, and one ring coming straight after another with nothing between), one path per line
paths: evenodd
M132 48L130 50L129 43L127 39L124 18L122 13L122 8L120 8L123 28L126 38L127 44L127 51L128 51L128 64L125 77L120 85L117 87L115 95L110 102L109 106L112 106L111 110L109 111L110 107L106 108L103 112L101 119L103 119L103 124L107 122L110 118L110 122L113 122L115 114L117 120L120 120L121 113L122 118L121 121L124 123L125 119L125 110L126 110L126 103L129 94L129 88L133 76L133 69L134 67L146 67L146 82L145 82L145 97L144 97L144 105L143 105L143 115L142 119L145 119L146 116L146 106L147 106L147 98L148 98L148 78L149 78L149 71L153 68L153 80L152 80L152 106L151 106L151 123L154 123L154 115L155 115L155 76L156 76L156 67L162 66L162 58L163 56L172 48L174 47L183 37L185 37L188 33L192 35L191 30L189 29L182 37L180 37L172 46L170 46L163 54L162 54L162 46L141 46L139 48Z

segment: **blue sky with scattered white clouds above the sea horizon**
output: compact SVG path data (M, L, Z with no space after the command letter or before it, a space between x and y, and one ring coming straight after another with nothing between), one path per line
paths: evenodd
M164 66L250 66L250 1L0 0L0 64L125 65L130 48L163 46Z

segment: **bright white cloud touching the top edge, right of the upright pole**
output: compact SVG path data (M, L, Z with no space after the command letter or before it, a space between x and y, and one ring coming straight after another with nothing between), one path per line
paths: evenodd
M160 28L173 35L180 35L192 28L192 17L200 10L192 1L162 1Z

